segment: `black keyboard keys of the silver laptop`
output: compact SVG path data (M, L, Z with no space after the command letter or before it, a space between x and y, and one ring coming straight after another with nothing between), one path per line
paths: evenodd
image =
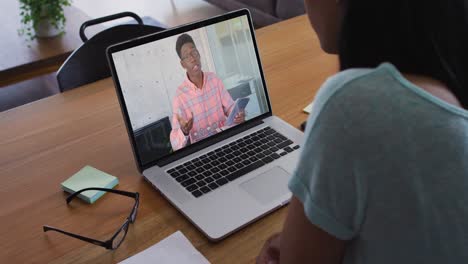
M266 127L167 170L193 196L200 197L279 159L299 145Z

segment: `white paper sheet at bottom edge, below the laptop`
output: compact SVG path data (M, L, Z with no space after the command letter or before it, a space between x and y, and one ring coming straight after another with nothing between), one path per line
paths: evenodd
M180 231L120 263L210 264Z

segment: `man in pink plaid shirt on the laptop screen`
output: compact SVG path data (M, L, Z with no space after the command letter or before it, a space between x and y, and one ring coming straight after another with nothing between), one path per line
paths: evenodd
M200 53L190 35L177 38L176 51L186 78L172 102L170 138L174 150L216 134L234 106L222 80L212 72L202 71ZM244 120L245 112L240 111L234 124Z

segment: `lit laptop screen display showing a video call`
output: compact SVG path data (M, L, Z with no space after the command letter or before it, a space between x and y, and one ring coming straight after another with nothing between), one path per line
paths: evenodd
M142 164L268 112L246 16L113 54Z

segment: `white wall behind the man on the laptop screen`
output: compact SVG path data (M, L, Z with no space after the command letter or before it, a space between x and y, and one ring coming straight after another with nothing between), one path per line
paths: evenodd
M216 72L206 29L187 34L200 51L202 69ZM172 116L172 98L185 78L175 50L178 36L113 54L133 130Z

